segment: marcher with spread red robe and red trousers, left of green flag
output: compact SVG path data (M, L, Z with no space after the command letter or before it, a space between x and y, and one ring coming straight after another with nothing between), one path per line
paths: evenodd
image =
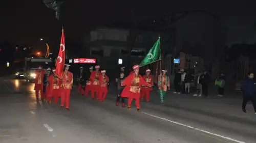
M126 87L121 93L121 97L128 98L128 109L131 110L131 105L133 99L136 100L137 111L140 111L140 89L142 85L151 87L151 84L147 83L142 76L139 74L140 67L139 65L133 66L134 73L127 76L123 82L122 86Z

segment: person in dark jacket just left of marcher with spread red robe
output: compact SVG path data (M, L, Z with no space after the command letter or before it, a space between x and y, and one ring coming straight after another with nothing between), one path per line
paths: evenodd
M117 81L116 81L116 82L117 82L117 91L118 91L117 97L116 97L116 106L119 106L119 102L120 102L120 98L121 98L122 107L124 108L124 107L125 107L124 98L121 97L121 93L122 93L123 88L124 88L124 87L122 87L122 85L121 85L122 82L123 82L123 79L124 79L124 73L121 72L121 73L120 73L120 77L117 78Z

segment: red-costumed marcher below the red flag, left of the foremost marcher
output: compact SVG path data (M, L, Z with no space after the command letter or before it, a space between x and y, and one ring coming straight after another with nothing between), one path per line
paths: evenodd
M51 95L54 98L54 103L58 103L59 97L61 97L60 86L61 82L59 77L56 75L56 69L52 70L53 74L49 77Z

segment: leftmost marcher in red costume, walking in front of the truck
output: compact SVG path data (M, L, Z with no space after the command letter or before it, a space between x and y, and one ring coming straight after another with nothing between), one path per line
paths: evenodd
M36 99L39 98L39 91L40 91L40 94L41 94L41 99L43 99L44 95L42 94L42 86L44 84L44 75L45 75L45 71L42 70L42 66L39 66L37 68L37 70L35 71L35 87L34 87L34 90L35 90L35 96L36 96Z

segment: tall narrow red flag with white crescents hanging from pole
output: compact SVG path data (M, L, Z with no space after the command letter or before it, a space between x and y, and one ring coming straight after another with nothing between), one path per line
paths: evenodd
M61 77L63 74L64 66L65 66L65 36L64 36L64 30L62 27L62 34L61 34L61 40L60 40L60 46L59 46L59 54L55 63L56 66L56 75L58 77Z

